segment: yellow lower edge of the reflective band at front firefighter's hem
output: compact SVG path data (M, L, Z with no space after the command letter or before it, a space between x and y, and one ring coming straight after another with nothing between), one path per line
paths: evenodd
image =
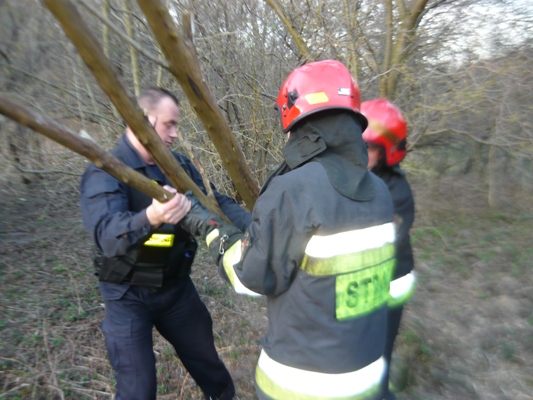
M298 393L293 390L284 388L274 382L270 377L257 367L255 369L255 381L257 386L272 399L291 399L291 400L368 400L375 398L379 386L375 385L364 393L354 394L342 397L323 397L313 396L305 393Z

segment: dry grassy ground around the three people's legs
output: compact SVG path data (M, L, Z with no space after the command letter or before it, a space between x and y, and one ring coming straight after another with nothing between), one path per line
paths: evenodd
M533 214L486 209L467 187L413 184L418 288L393 359L401 399L533 399ZM104 315L77 183L0 186L0 398L109 399ZM473 198L477 198L475 194ZM239 399L255 399L264 299L237 296L201 248L193 280ZM158 399L201 399L156 334Z

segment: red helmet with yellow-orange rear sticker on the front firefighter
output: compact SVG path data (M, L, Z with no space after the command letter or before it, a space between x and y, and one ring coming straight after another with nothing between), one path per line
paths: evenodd
M359 113L360 105L357 83L350 71L335 60L317 61L296 68L281 85L276 99L285 133L302 118L333 108L355 112L364 130L367 121Z

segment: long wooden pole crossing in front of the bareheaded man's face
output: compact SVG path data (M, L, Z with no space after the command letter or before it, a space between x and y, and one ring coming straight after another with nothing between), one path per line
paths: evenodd
M43 3L54 14L102 90L111 99L127 125L170 180L172 186L181 193L191 190L209 210L229 222L218 203L208 198L196 186L144 116L137 101L129 96L98 41L72 2L70 0L43 0Z

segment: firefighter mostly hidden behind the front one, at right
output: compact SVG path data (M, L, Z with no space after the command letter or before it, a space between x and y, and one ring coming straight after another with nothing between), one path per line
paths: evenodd
M400 110L386 99L374 99L361 104L368 119L363 140L368 145L368 169L386 183L394 204L396 228L396 267L390 287L388 335L385 346L387 361L384 380L385 399L395 399L388 389L389 367L394 341L400 328L403 306L415 287L414 260L409 230L414 221L414 200L400 162L406 154L407 124Z

